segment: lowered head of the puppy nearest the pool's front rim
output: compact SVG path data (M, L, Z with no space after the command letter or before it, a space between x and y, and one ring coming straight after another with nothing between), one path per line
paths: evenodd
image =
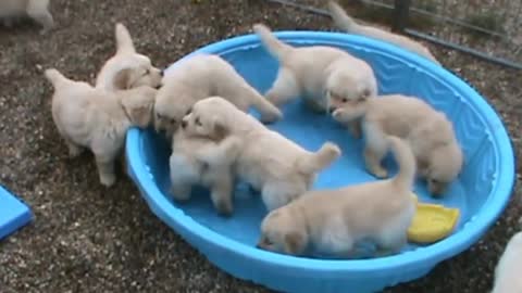
M308 245L308 234L304 225L293 217L288 206L272 211L261 222L261 238L257 247L300 255Z

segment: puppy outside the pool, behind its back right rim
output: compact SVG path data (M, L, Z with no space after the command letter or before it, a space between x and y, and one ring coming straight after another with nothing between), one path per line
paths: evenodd
M414 41L410 38L407 38L405 36L400 36L400 35L386 31L376 27L360 25L356 23L353 18L348 16L345 10L335 1L328 2L328 10L335 24L346 33L366 36L370 38L387 41L389 43L401 47L410 52L417 53L418 55L424 56L436 64L440 64L435 59L435 56L430 52L430 50L426 47L424 47L422 43Z

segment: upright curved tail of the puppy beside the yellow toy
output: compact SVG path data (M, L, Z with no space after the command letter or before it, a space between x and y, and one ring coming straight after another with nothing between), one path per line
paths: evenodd
M402 189L410 190L415 179L417 162L410 145L398 137L388 137L399 173L391 179Z

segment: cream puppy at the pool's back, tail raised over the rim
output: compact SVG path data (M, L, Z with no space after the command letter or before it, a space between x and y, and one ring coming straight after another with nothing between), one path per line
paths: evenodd
M262 24L253 26L266 50L279 62L277 77L266 98L279 106L298 97L315 112L326 112L328 103L365 99L377 94L372 67L361 59L325 46L295 48L279 41ZM360 136L357 123L351 131Z

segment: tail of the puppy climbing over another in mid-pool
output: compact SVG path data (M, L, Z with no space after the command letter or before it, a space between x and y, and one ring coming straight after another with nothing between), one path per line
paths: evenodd
M326 168L341 154L339 146L326 142L315 153L309 153L296 162L296 167L302 174L314 174Z

